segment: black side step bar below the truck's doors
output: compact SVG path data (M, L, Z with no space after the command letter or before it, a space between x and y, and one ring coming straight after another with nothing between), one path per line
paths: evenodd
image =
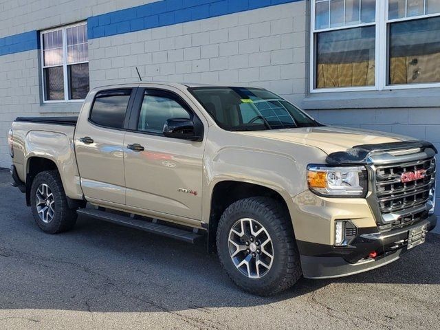
M185 241L187 243L196 243L201 239L203 235L188 230L170 227L168 225L162 225L159 223L148 222L139 219L133 219L131 217L124 217L123 215L105 212L102 210L95 210L91 208L82 208L76 210L78 214L92 217L95 219L108 221L117 225L123 225L124 227L143 230L144 232L151 232L153 234L159 234L162 236L170 237L171 239L178 239L179 241Z

